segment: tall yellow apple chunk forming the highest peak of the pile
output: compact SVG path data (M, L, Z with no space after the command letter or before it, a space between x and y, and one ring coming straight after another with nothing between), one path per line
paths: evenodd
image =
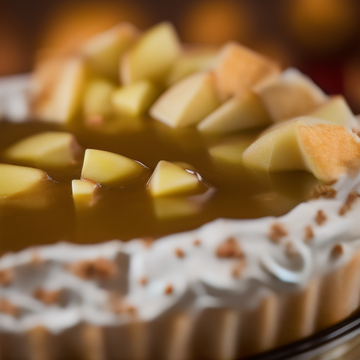
M122 57L122 84L139 80L164 82L174 61L181 53L181 44L171 23L160 23L145 32Z

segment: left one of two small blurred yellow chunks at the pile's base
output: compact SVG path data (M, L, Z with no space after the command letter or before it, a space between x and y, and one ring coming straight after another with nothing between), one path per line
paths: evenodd
M111 95L116 86L105 79L92 79L86 84L82 109L85 117L106 117L112 110Z

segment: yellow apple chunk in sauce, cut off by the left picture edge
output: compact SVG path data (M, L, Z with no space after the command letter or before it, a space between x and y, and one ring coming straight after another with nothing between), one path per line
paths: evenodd
M39 169L0 164L0 198L30 193L48 179Z

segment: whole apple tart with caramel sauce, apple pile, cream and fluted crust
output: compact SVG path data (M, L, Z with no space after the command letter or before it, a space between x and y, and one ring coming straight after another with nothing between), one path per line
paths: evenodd
M238 359L359 308L345 99L234 42L191 51L169 23L120 24L14 95L1 359Z

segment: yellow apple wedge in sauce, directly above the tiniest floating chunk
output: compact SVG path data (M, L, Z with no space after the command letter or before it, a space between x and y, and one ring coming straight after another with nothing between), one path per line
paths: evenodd
M121 186L147 168L140 162L103 150L86 149L82 179L101 185Z

